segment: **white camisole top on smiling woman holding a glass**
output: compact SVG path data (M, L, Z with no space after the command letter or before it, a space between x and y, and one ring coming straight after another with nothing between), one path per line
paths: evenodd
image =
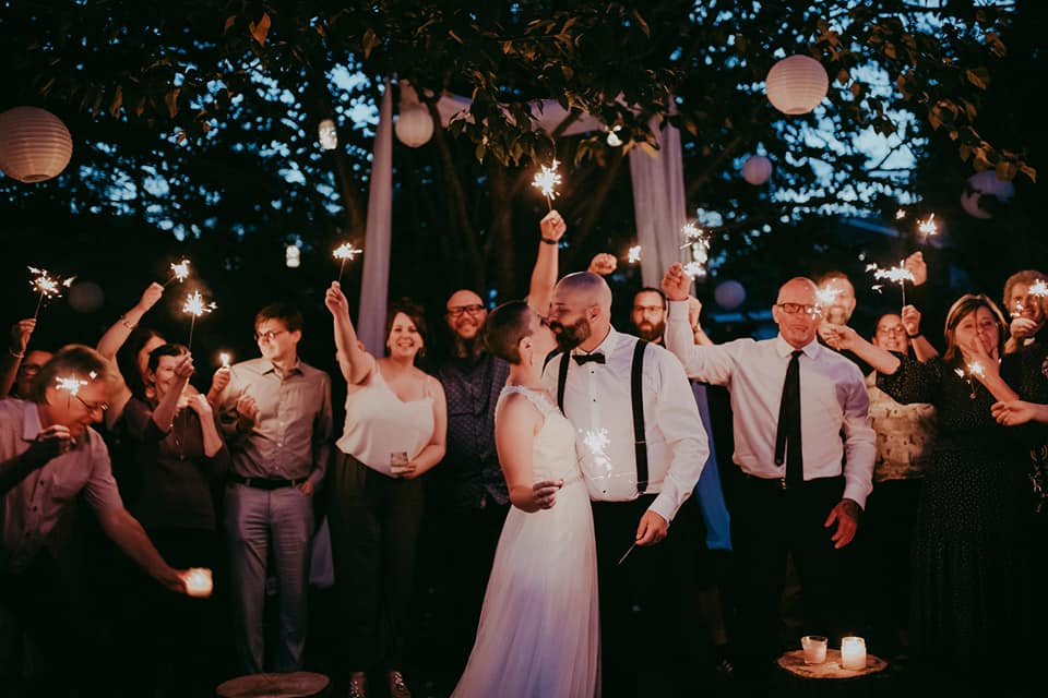
M433 396L405 402L376 366L367 385L346 396L346 426L335 445L372 470L391 476L390 457L414 459L433 437Z

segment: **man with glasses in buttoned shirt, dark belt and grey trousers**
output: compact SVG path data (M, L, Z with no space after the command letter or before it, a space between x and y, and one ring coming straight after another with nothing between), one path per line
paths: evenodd
M226 535L233 578L234 639L243 672L265 671L262 610L266 559L279 595L273 670L302 667L312 495L331 455L331 380L298 357L302 315L288 303L254 317L258 359L230 368L219 422L233 460Z

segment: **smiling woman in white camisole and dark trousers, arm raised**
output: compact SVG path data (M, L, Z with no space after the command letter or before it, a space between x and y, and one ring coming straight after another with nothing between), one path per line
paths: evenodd
M444 390L415 366L426 332L417 305L393 305L389 356L374 359L357 340L337 282L324 303L348 384L346 426L326 482L347 694L365 696L367 672L382 671L390 695L405 698L410 693L401 672L422 516L418 478L444 457Z

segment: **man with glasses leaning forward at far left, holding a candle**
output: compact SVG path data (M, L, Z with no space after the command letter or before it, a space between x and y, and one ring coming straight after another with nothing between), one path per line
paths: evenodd
M0 401L0 626L21 626L41 651L29 695L61 696L83 688L84 648L96 641L80 611L86 600L59 554L80 495L102 530L167 589L184 592L184 573L164 562L124 508L92 429L108 408L108 362L88 347L66 347L40 369L28 397ZM12 659L0 653L0 675L19 673Z

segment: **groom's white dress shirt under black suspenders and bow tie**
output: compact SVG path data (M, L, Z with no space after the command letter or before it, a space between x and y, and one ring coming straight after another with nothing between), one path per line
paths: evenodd
M571 361L564 387L564 413L575 428L576 449L590 498L628 502L636 491L633 445L631 372L636 337L611 328L594 349L605 363L579 365L556 357L543 374L545 387L557 395L562 361ZM573 353L584 353L577 349ZM644 437L647 441L647 489L657 494L651 510L671 521L702 474L710 448L691 384L680 362L662 347L644 350L642 393Z

